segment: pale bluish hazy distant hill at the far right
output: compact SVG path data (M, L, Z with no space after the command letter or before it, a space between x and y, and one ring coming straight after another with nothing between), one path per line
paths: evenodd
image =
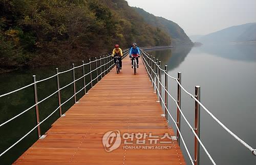
M203 44L256 41L256 23L231 26L221 31L202 36L196 41Z

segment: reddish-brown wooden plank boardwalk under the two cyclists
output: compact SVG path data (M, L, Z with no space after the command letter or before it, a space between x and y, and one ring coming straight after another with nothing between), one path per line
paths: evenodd
M59 118L14 164L186 164L177 141L167 138L151 145L148 135L175 135L161 116L163 111L140 58L140 68L133 74L130 59L123 69L113 69L88 94L83 96L65 117ZM102 144L105 132L145 133L146 144L136 144L134 136L112 152ZM160 139L160 138L159 138ZM166 149L125 149L133 146L169 146Z

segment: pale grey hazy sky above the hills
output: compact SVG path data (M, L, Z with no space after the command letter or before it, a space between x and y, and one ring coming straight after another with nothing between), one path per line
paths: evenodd
M256 22L256 0L126 0L130 6L178 23L185 33L205 35Z

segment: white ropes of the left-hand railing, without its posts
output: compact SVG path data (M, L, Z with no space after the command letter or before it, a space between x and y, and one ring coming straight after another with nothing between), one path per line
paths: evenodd
M123 53L123 54L124 54L123 58L124 58L125 56L127 56L127 54L129 53L129 52L127 52L127 50L128 50L128 49L125 49L125 50L123 51L123 52L124 52L124 53ZM100 58L100 59L95 60L95 61L91 61L91 62L89 62L89 63L87 63L87 64L83 64L83 65L74 67L74 68L72 68L72 70L74 70L74 69L76 69L76 68L79 68L79 67L82 67L82 66L84 66L84 65L91 64L91 63L93 63L93 62L100 61L100 60L102 60L102 59L110 58L111 56L112 56L111 54L108 54L108 56L106 56L106 57ZM17 117L19 117L20 115L22 115L22 114L26 113L27 111L29 111L31 108L37 106L37 105L40 104L41 102L47 100L48 98L50 98L50 97L53 96L54 94L58 93L58 92L61 91L62 89L65 89L65 88L67 88L68 86L74 84L74 82L76 82L76 81L82 79L83 77L85 77L85 76L91 74L92 72L94 72L94 71L96 71L96 70L102 68L102 67L105 66L105 65L110 65L108 68L106 68L106 69L105 69L104 71L102 71L100 74L97 74L97 77L96 77L96 78L91 79L91 81L90 81L87 85L85 85L82 89L80 89L78 92L75 92L74 95L71 96L68 100L66 100L65 102L61 103L48 117L46 117L46 118L45 118L44 120L42 120L41 122L37 123L37 125L36 125L34 128L32 128L28 133L26 133L26 134L25 134L24 136L22 136L18 141L16 141L13 145L11 145L8 149L6 149L4 152L2 152L2 153L0 154L0 157L1 157L2 155L4 155L6 152L8 152L11 148L13 148L13 147L14 147L16 144L18 144L20 141L22 141L27 135L29 135L33 130L35 130L38 126L40 126L40 124L42 124L42 123L45 122L48 118L50 118L62 105L64 105L65 103L67 103L69 100L71 100L73 97L75 97L78 93L80 93L82 90L84 90L86 87L88 87L93 81L95 81L96 79L98 79L99 77L101 77L103 73L105 74L106 71L108 71L109 69L111 69L111 68L114 66L113 61L114 61L114 60L111 59L111 60L109 60L109 62L104 63L104 64L100 65L99 67L97 67L97 65L96 65L96 68L95 68L94 70L91 70L91 71L88 72L87 74L84 74L83 76L81 76L81 77L79 77L79 78L77 78L77 79L74 79L72 82L70 82L70 84L68 84L68 85L66 85L66 86L64 86L64 87L62 87L62 88L60 88L60 89L58 89L57 91L55 91L55 92L52 93L51 95L47 96L46 98L42 99L41 101L38 101L37 103L35 103L35 104L32 105L31 107L27 108L27 109L26 109L25 111L23 111L22 113L19 113L18 115L14 116L13 118L9 119L8 121L6 121L6 122L0 124L0 127L1 127L1 126L5 125L5 124L9 123L10 121L14 120L15 118L17 118ZM112 64L112 65L111 65L111 64ZM70 71L70 69L67 70L67 71L64 71L64 72L68 72L68 71ZM62 73L64 73L64 72L62 72ZM59 75L59 74L61 74L61 72L59 72L59 73L57 73L57 74L55 74L55 75L53 75L53 76L50 76L50 77L48 77L48 78L45 78L45 79L43 79L43 80L48 80L48 79L53 78L53 77L55 77L55 76L57 76L57 75ZM22 88L20 88L20 89L17 89L17 90L15 90L15 91L9 92L9 93L4 94L4 95L1 95L1 96L3 97L3 96L6 96L6 95L8 95L8 94L11 94L11 93L17 92L17 91L19 91L19 90L25 89L25 88L27 88L27 87L30 87L30 86L32 86L32 85L36 85L38 82L41 82L41 81L42 81L42 80L35 81L34 83L32 83L32 84L30 84L30 85L28 85L28 86L22 87Z

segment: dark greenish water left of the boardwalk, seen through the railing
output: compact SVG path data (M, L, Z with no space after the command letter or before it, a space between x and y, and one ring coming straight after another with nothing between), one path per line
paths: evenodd
M88 62L88 61L87 61ZM105 62L107 60L105 59ZM103 60L102 60L103 63ZM81 65L82 62L77 62L76 66ZM97 63L99 66L99 61ZM105 68L109 67L105 66ZM18 88L27 86L33 82L33 75L36 75L37 80L41 80L56 74L55 66L40 67L36 69L19 70L11 73L5 73L0 75L0 95L16 90ZM71 69L70 66L62 66L59 68L59 72ZM92 63L92 70L96 68L95 63ZM103 67L102 67L103 70ZM85 66L86 73L89 72L89 65ZM98 69L98 73L100 69ZM82 76L82 67L75 69L76 79ZM96 78L96 71L92 73L92 79ZM99 78L100 79L100 78ZM59 75L60 88L70 84L73 81L73 72L69 71ZM86 84L90 82L90 74L86 76ZM93 81L93 84L96 80ZM76 92L83 87L83 79L76 81ZM91 87L88 86L87 90ZM38 101L46 98L57 91L56 77L53 77L47 81L39 82L37 84ZM68 100L74 94L73 84L67 88L61 90L62 103ZM77 94L77 100L82 97L84 91L82 90ZM25 109L35 104L34 101L34 87L28 87L24 90L20 90L16 93L4 96L0 98L0 124L13 118L25 111ZM74 99L71 99L62 106L62 114L64 114L72 105ZM40 121L46 119L56 108L58 107L58 96L53 95L49 99L38 105L39 119ZM49 119L40 125L41 134L44 134L51 124L59 118L59 111L56 111ZM26 133L36 126L36 113L35 108L30 109L23 115L17 117L11 122L0 127L0 153L4 152L12 144L17 142ZM0 157L0 164L10 164L15 161L22 153L24 153L36 140L37 129L32 131L27 137L10 149L7 153Z

